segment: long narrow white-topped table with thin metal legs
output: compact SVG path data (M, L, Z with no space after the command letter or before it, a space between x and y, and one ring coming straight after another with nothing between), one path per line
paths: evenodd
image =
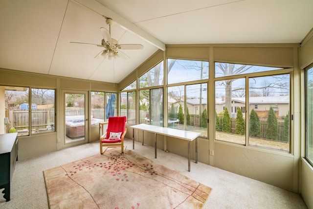
M190 171L190 160L191 160L191 154L190 154L190 141L195 140L195 161L198 163L198 137L200 133L192 132L192 131L184 131L179 129L173 129L173 128L165 128L165 127L159 127L154 125L148 125L148 124L138 124L131 126L133 128L133 149L134 149L134 130L142 130L142 145L143 145L143 132L148 131L155 134L160 134L168 137L174 137L178 139L183 139L188 141L188 171ZM155 139L155 156L156 156L156 139ZM156 157L155 157L156 158Z

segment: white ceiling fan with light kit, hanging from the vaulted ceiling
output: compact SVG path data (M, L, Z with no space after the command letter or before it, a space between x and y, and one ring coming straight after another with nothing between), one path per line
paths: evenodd
M112 19L107 18L106 23L109 25L109 31L101 27L100 31L102 34L101 45L98 44L89 44L89 43L81 43L81 42L70 42L75 44L88 44L95 45L99 47L103 47L104 49L100 51L94 58L102 56L104 59L108 58L109 60L117 59L122 57L124 59L130 59L124 52L121 50L126 49L142 49L143 46L141 44L118 44L117 40L111 38L111 25L114 23Z

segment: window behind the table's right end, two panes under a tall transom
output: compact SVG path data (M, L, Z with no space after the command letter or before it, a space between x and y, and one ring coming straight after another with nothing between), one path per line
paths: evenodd
M206 61L167 61L168 127L200 132L207 137ZM177 84L177 85L175 85Z

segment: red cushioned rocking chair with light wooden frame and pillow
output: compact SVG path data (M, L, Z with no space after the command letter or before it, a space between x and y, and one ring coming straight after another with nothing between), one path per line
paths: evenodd
M103 154L109 147L121 147L122 153L126 149L124 137L126 134L126 116L109 117L106 133L100 137L100 153ZM111 136L111 137L110 137ZM103 147L105 149L103 150Z

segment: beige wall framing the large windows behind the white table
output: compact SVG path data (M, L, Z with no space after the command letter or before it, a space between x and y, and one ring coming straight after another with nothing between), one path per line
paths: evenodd
M293 69L295 76L292 83L294 83L294 90L297 90L300 83L297 76L297 71L299 71L299 47L299 44L170 45L166 47L163 59L209 61L208 118L209 121L215 121L214 105L211 105L214 104L215 100L214 93L212 93L214 92L214 61ZM150 58L150 60L153 60L153 58ZM152 64L147 65L145 70L149 70L152 66ZM138 74L134 70L131 75ZM133 77L132 80L134 79ZM291 98L291 104L294 103L300 103L299 96ZM299 106L295 105L292 108L292 113L298 117L300 113ZM300 138L297 137L300 136L300 126L293 124L293 121L291 123L294 128L291 139L293 145L291 153L215 141L214 132L210 131L214 130L215 124L214 122L209 123L208 139L199 138L198 141L198 147L200 148L198 150L198 160L202 163L300 193L300 177L297 172L300 162ZM129 137L132 139L131 135ZM158 142L159 149L166 149L169 152L187 157L187 142L169 137L165 139L163 139L163 147ZM135 140L142 140L140 133L135 133ZM146 141L149 145L154 146L154 135L145 133L145 144ZM161 140L158 138L158 141ZM194 156L194 144L191 145L191 150L191 156ZM214 155L210 155L209 150L212 150Z

